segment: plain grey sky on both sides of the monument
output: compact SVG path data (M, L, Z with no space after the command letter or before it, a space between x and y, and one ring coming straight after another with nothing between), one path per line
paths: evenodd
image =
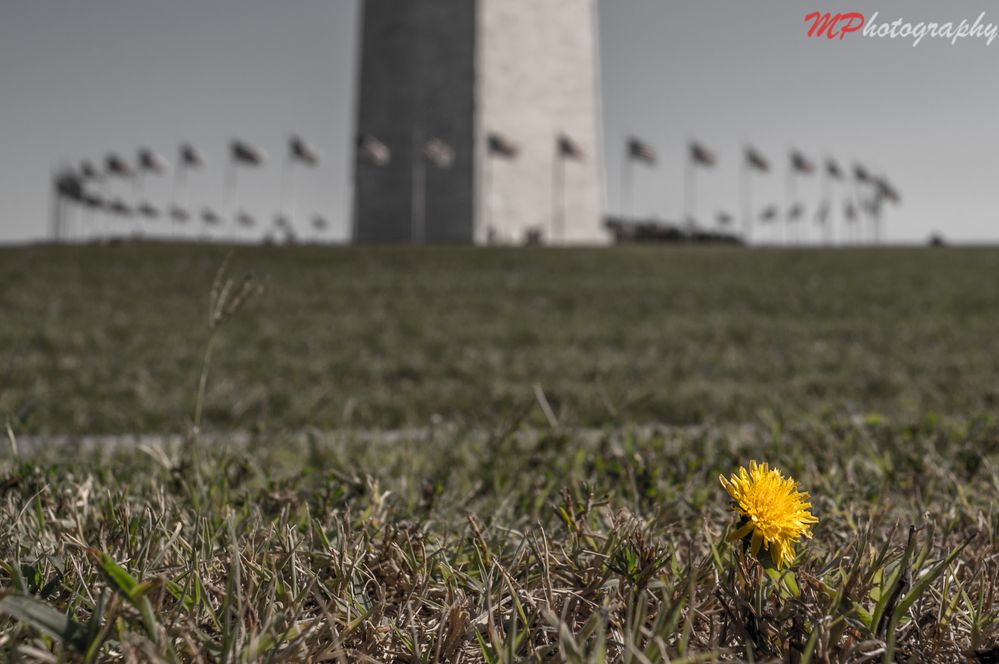
M753 178L757 207L783 204L787 153L799 149L891 180L902 204L887 210L889 241L999 241L999 39L829 40L809 38L804 21L818 9L861 12L868 26L973 23L982 12L999 23L991 3L597 3L605 211L622 211L623 143L634 135L659 164L636 168L629 213L682 216L686 146L698 140L719 157L697 174L699 214L737 215L752 144L777 165ZM262 219L294 201L296 216L321 214L327 237L347 240L359 10L359 0L0 0L0 242L46 237L58 165L147 146L173 160L180 141L205 153L204 171L179 188L146 178L111 193ZM292 133L321 150L320 168L282 174ZM272 163L241 171L224 201L233 137ZM797 185L810 202L820 187L817 177Z

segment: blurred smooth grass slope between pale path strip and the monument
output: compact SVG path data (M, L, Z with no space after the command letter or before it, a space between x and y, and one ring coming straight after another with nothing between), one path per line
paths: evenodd
M182 432L217 247L0 250L0 413ZM238 249L208 427L481 427L991 412L999 250ZM536 423L543 424L538 413Z

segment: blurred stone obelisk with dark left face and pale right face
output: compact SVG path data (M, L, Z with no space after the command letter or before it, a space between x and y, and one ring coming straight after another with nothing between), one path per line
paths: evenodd
M366 0L361 243L600 243L593 0Z

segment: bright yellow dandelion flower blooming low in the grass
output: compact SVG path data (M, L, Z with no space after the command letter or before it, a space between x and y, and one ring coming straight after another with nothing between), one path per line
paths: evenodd
M724 475L718 479L735 501L734 511L742 516L729 541L752 535L749 550L754 556L762 546L778 568L794 560L794 543L802 535L811 537L809 526L819 521L808 511L812 505L808 494L798 491L798 483L755 461L749 462L748 472L739 468L730 479Z

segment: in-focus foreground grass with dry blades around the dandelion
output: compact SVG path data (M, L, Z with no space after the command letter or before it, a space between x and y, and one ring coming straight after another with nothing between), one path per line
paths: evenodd
M748 458L811 491L797 595L724 542ZM834 420L8 457L0 659L963 661L997 460L991 421Z

